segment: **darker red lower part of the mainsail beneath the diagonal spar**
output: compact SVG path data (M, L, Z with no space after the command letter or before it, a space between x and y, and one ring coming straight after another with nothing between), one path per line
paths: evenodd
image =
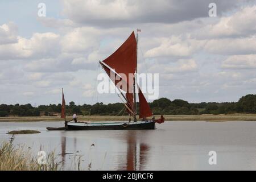
M105 72L108 74L108 76L110 77L111 75L113 75L113 78L110 77L110 80L112 80L114 82L115 85L118 84L119 81L122 81L122 78L119 77L117 75L117 73L114 73L112 70L110 70L108 67L106 67L104 64L102 64L100 62L102 68L105 70ZM127 84L126 82L123 82L123 84ZM122 87L122 86L121 86ZM122 88L119 88L119 89L122 89ZM129 107L130 110L134 110L133 109L133 93L126 93L125 95L126 97L126 100L127 100L127 106ZM132 114L128 109L127 109L127 112Z

